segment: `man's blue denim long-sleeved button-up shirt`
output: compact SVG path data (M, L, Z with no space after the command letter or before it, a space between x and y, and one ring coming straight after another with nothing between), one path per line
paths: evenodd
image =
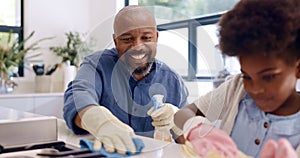
M147 111L151 97L163 94L164 102L179 108L187 104L188 91L183 80L166 64L155 60L144 79L136 81L119 60L116 49L87 56L74 81L65 92L64 119L76 134L86 131L74 124L77 112L88 105L109 109L136 134L152 137L154 127Z

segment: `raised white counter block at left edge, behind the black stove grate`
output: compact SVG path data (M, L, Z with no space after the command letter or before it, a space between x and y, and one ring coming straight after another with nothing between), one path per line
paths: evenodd
M19 146L56 141L57 119L0 107L0 145Z

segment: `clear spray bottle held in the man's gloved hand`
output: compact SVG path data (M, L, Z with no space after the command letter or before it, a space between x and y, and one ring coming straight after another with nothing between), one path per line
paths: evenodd
M157 110L163 106L163 95L156 94L152 97L153 101L153 110ZM170 129L168 128L161 128L161 129L155 129L154 131L154 139L156 140L162 140L166 142L172 141L172 135L170 133Z

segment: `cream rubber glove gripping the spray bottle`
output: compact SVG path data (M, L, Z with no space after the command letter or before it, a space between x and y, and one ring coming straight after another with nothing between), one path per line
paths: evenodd
M179 129L174 123L174 114L178 110L179 109L176 106L169 103L164 103L163 106L155 111L153 111L153 107L151 107L147 114L152 117L152 125L156 129L172 129L177 136L180 136L182 134L182 130Z

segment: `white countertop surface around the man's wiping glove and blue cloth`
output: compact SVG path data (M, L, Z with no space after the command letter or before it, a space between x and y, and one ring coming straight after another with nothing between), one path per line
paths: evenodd
M145 144L145 148L139 155L131 156L133 158L182 158L181 145L174 142L167 143L154 140L148 137L137 136L141 138ZM90 135L74 135L68 129L64 120L58 120L58 140L64 141L67 144L79 147L80 138L93 139Z

